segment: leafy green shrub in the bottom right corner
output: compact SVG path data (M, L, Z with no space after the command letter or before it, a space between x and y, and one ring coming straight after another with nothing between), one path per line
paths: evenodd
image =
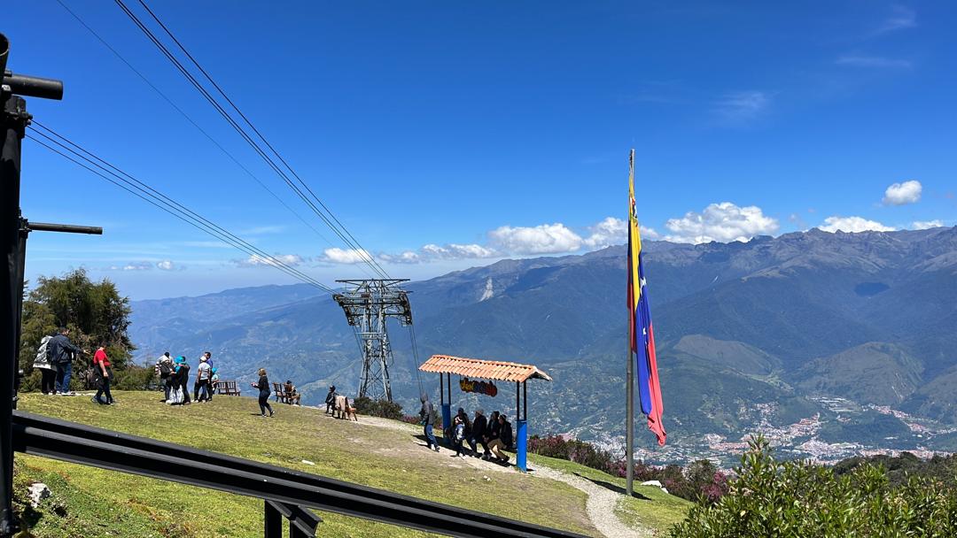
M775 461L763 437L749 445L729 493L693 507L672 537L957 534L957 491L939 480L910 477L894 487L881 466L838 475L806 461Z

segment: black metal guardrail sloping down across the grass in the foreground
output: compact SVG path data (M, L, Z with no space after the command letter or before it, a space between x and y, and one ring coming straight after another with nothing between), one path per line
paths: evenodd
M21 411L13 413L13 449L263 499L266 501L266 538L278 537L269 530L271 521L274 526L276 521L281 524L277 512L290 522L301 522L291 531L299 534L293 533L292 536L313 536L308 527L314 520L309 516L316 518L317 525L319 518L305 508L447 536L582 536L276 465ZM311 532L315 528L313 525Z

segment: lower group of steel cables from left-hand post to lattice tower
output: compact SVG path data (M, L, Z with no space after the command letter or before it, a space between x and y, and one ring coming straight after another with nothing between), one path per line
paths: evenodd
M277 257L273 256L272 254L269 254L265 252L264 250L262 250L261 248L258 248L250 244L249 242L236 236L235 234L223 228L222 226L218 226L215 223L212 223L205 217L202 217L198 213L190 210L185 205L177 203L176 201L168 198L163 193L157 191L156 189L150 187L149 185L143 182L140 182L133 176L127 174L126 172L123 172L120 168L114 166L108 161L104 161L100 159L95 154L87 151L86 149L82 148L75 142L72 142L71 140L68 140L62 137L61 135L57 134L55 131L53 131L49 127L45 127L43 125L40 125L40 126L46 129L47 131L49 131L53 136L50 136L42 131L39 131L33 128L33 126L31 126L31 131L35 133L36 135L39 135L43 139L46 139L47 141L56 144L56 146L58 146L60 149L57 149L56 147L46 143L44 140L40 140L36 137L33 137L30 134L28 134L27 137L33 141L36 141L37 143L46 147L47 149L55 152L61 157L67 159L68 161L72 161L75 164L78 164L79 166L85 168L86 170L96 174L97 176L100 176L100 178L121 187L123 190L129 192L130 194L133 194L134 196L137 196L138 198L144 200L148 204L152 204L166 211L173 217L189 224L190 226L196 227L197 229L200 229L201 231L205 231L206 233L209 233L211 236L215 237L216 239L219 239L220 241L223 241L224 243L232 247L235 247L239 250L242 250L243 252L247 254L250 254L254 258L261 260L266 265L282 270L286 274L306 284L310 284L316 288L319 288L320 290L330 292L330 293L333 292L331 288L325 286L323 283L319 282L313 277L305 274L299 269L295 269L289 266L288 264L279 260ZM64 141L57 140L55 137L64 140L66 143L64 143ZM74 149L68 144L72 144L77 149ZM73 156L75 156L76 158L71 157L70 155L67 155L61 150L64 150L73 154ZM81 161L85 161L86 164L84 164L84 162L78 161L77 158ZM92 168L90 165L96 168L99 168L100 170ZM113 176L113 178L110 178L109 176Z

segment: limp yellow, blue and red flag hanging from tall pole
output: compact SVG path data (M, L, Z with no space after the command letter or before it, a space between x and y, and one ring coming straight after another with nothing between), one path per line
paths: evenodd
M664 424L661 414L661 385L657 376L655 331L652 312L648 306L648 287L645 282L644 253L641 251L641 231L634 207L634 149L628 166L628 310L632 353L638 363L638 399L641 412L648 416L648 429L655 433L658 444L664 445Z

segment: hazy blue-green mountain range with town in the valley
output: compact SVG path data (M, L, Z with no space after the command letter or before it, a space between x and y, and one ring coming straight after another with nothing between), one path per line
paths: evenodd
M650 459L714 456L716 444L754 431L798 455L840 443L957 448L957 226L644 246L672 447L656 452L639 432ZM554 381L529 383L533 433L615 446L624 433L625 264L625 248L608 247L412 282L419 360L534 363ZM309 286L132 307L142 359L210 350L225 377L248 380L262 366L294 380L308 402L329 383L357 390L352 329ZM437 398L437 379L414 368L408 330L389 331L393 393L407 409L420 390ZM513 412L514 388L500 388L498 398L454 397Z

